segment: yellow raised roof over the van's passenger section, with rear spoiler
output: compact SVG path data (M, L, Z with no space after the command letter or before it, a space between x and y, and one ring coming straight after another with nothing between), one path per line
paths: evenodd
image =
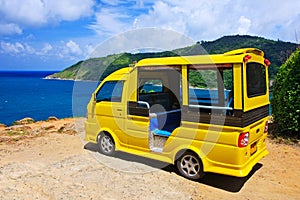
M242 63L246 54L253 55L254 57L264 56L264 52L259 49L243 48L232 50L224 54L146 58L140 60L135 66Z

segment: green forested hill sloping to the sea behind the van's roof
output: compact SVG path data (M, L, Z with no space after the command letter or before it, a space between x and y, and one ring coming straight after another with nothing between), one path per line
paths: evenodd
M175 49L173 51L137 54L120 53L101 58L90 58L84 61L79 61L65 70L51 75L49 78L99 81L109 75L111 72L123 67L127 67L134 61L139 61L143 58L177 55L199 55L206 53L216 54L245 47L254 47L265 52L265 57L268 58L272 63L269 75L270 79L273 79L279 67L296 49L297 44L283 42L280 40L274 41L262 37L248 35L224 36L215 41L201 41L192 46Z

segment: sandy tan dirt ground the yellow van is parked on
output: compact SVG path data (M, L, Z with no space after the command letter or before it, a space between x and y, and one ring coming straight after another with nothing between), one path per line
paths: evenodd
M269 140L270 154L248 177L206 174L194 182L153 160L99 154L83 140L82 123L26 125L37 136L20 140L0 128L0 199L300 199L299 147Z

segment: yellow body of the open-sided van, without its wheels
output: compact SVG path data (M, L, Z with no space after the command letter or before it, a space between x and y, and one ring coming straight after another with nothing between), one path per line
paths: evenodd
M247 176L268 154L268 65L254 48L143 59L95 90L85 139L98 143L106 133L116 151L171 164L190 152L202 172ZM199 87L191 86L193 78L201 79Z

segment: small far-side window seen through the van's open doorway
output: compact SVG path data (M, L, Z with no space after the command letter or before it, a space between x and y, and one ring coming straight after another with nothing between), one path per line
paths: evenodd
M163 84L160 79L141 79L139 94L163 92Z

